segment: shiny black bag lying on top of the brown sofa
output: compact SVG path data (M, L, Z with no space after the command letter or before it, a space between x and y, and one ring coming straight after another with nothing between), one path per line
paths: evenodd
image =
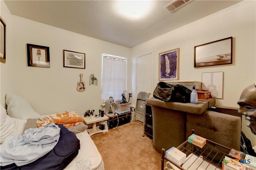
M168 84L159 82L154 90L153 96L164 102L190 102L191 90L180 84Z

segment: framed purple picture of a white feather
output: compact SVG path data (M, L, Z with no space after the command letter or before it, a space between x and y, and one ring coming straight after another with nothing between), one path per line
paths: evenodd
M179 80L179 52L177 48L159 53L159 81Z

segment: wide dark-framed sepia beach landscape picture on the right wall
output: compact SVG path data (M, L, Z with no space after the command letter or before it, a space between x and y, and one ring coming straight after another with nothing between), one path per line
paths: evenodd
M232 37L194 47L194 67L232 64Z

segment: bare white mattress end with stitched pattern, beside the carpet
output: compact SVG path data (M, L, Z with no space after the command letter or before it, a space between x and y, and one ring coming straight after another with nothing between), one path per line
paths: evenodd
M77 133L80 140L78 155L65 170L104 170L102 156L87 131Z

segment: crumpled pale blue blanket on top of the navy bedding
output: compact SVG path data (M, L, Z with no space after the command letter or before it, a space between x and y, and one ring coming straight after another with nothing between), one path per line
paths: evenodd
M0 166L22 166L50 152L58 143L60 128L51 123L43 128L27 129L23 135L9 137L2 143Z

